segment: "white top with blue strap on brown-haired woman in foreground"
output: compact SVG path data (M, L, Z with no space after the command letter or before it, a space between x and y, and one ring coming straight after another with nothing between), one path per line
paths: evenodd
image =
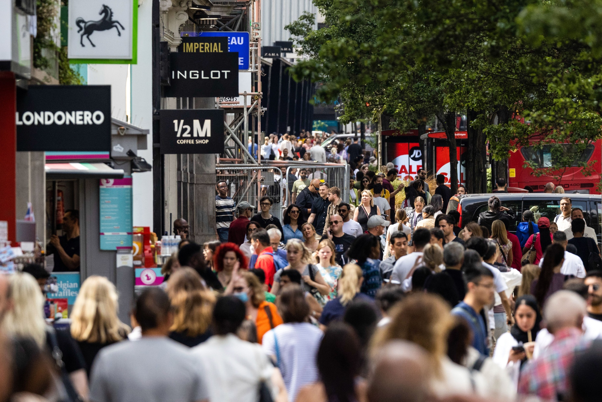
M290 322L267 331L262 339L264 353L278 361L290 402L297 399L299 389L318 380L315 357L323 335L320 328L308 322Z

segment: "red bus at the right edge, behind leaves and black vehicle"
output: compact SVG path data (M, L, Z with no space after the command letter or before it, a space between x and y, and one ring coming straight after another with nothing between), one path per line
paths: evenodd
M563 144L566 152L571 152L571 145ZM588 145L579 158L579 162L586 162L588 165L594 165L594 174L583 175L583 168L574 164L565 171L557 172L562 177L557 180L553 176L539 176L533 174L533 169L524 168L525 162L535 162L538 168L545 169L551 166L551 146L544 145L542 149L535 149L533 146L523 146L516 151L510 151L508 159L508 186L520 187L524 189L530 186L534 192L543 192L545 183L552 182L557 186L562 186L566 193L582 194L600 194L598 184L602 173L602 140L597 140Z

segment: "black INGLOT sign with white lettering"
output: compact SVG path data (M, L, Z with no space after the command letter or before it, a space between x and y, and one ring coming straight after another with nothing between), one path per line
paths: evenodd
M238 96L237 52L174 52L169 61L167 98Z

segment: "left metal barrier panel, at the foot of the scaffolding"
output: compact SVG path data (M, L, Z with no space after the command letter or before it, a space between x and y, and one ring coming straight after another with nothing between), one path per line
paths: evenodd
M259 199L270 196L273 204L270 214L282 222L282 171L272 166L238 167L237 165L217 166L217 181L228 183L228 195L238 205L242 201L255 206L255 213L261 213ZM238 215L238 211L235 212Z

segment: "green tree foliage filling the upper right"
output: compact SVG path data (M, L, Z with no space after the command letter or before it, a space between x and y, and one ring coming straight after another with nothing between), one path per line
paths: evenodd
M483 133L495 160L531 145L551 153L527 162L535 175L591 173L580 155L601 137L602 0L315 4L326 28L312 30L311 14L287 27L308 57L291 74L319 82L321 101L340 98L341 121L380 110L406 129L438 116L453 141L450 116L467 110L469 136Z

